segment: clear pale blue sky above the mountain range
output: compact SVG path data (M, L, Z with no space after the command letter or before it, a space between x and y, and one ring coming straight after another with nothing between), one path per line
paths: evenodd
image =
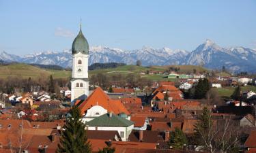
M192 51L212 39L256 48L255 0L0 0L0 52L68 50L80 19L89 46Z

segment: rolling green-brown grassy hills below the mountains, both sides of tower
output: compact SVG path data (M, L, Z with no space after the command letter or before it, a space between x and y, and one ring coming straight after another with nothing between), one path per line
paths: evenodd
M196 69L198 72L208 71L203 67L193 65L169 65L169 66L152 66L152 67L139 67L135 65L124 65L121 67L111 69L96 69L89 71L89 77L97 73L104 73L106 75L115 75L120 73L127 75L128 73L141 73L146 71L166 71L169 67L179 67L179 73L189 73ZM68 78L71 75L71 71L66 70L53 70L53 69L42 69L40 67L26 65L26 64L12 64L12 65L0 65L0 78L7 78L10 76L18 76L23 78L37 78L40 75L53 75L53 78ZM148 78L150 80L168 80L167 75L141 75L141 77Z

